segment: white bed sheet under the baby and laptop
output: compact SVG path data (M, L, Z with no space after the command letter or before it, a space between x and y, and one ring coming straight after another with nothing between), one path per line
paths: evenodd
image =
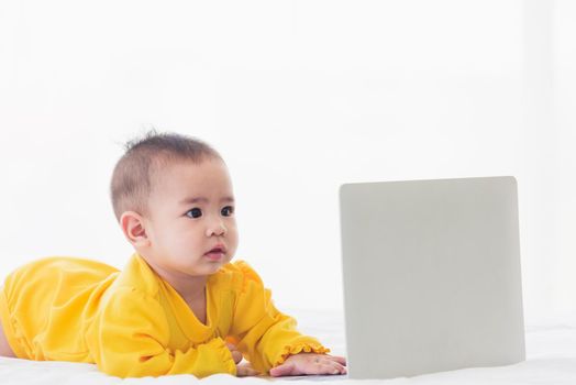
M320 339L334 355L345 355L344 322L340 311L286 311L295 316L299 329ZM348 380L346 384L576 384L576 317L562 321L539 321L527 326L527 361L508 366L465 369L420 375L410 378ZM119 378L99 372L96 365L69 362L34 362L0 358L0 384L137 384L184 385L202 384L269 384L288 378L234 377L217 374L202 380L192 375L174 375L143 378ZM318 384L318 381L299 380L292 384Z

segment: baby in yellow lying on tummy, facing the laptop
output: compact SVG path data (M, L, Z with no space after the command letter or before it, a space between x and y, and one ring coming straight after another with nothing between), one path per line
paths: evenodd
M0 355L96 363L120 377L346 372L345 358L276 309L245 261L231 263L234 195L211 146L154 130L129 142L111 198L135 250L124 268L53 256L12 272Z

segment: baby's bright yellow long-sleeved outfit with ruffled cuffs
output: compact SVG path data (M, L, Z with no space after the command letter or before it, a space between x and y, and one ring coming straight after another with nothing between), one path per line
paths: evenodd
M226 342L262 373L290 354L330 352L270 295L245 261L228 263L208 278L204 324L137 253L122 271L54 256L5 278L0 321L20 359L96 363L119 377L235 375Z

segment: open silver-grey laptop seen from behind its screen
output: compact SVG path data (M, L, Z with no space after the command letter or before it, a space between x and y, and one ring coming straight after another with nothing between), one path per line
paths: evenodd
M344 184L340 215L348 373L291 380L525 360L513 177Z

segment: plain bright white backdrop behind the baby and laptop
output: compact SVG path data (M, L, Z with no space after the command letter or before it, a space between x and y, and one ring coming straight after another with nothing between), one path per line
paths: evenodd
M527 321L576 311L572 1L0 2L0 273L122 267L109 200L154 125L212 144L279 308L342 307L337 188L514 175Z

